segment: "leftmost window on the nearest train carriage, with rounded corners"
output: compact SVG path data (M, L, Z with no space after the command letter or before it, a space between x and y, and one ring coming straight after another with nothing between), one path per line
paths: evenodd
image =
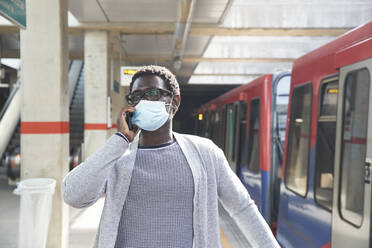
M311 97L311 83L293 89L285 184L290 190L302 196L307 192Z

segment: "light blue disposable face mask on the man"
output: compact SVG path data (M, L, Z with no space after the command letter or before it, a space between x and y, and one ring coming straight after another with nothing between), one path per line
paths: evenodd
M141 100L136 105L132 123L146 131L155 131L169 119L165 102Z

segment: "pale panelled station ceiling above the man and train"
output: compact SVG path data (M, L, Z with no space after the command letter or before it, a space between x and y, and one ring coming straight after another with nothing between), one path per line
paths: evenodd
M69 0L69 12L72 58L82 57L83 31L100 28L120 43L125 65L164 65L182 84L242 84L290 70L294 59L371 21L372 1ZM0 20L2 57L17 57L19 35L9 26Z

